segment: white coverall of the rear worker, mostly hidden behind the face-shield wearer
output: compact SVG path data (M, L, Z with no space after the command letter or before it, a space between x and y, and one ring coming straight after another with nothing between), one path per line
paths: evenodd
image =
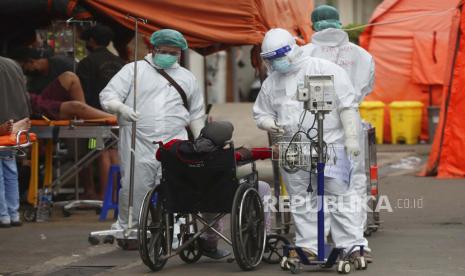
M340 29L325 29L312 36L312 42L302 47L305 55L329 60L341 66L349 75L355 88L357 103L373 91L375 80L375 63L373 57L360 46L349 42L347 33ZM361 127L360 129L363 129ZM365 172L366 132L359 136L360 156L354 158L350 186L357 194L365 198L368 179ZM363 212L363 224L366 224L367 213Z

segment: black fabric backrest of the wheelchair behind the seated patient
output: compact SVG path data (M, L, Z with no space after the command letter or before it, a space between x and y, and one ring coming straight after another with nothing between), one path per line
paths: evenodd
M186 153L188 141L169 149L160 147L162 179L160 192L173 213L230 213L238 187L234 148L199 154Z

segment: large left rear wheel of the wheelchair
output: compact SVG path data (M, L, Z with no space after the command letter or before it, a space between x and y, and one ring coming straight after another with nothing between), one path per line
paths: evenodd
M137 240L139 243L139 254L151 270L159 271L167 259L167 238L172 237L172 217L164 209L162 200L155 200L156 190L150 190L144 197L139 216L139 228L137 229ZM169 229L167 229L169 221ZM172 240L172 239L170 239Z

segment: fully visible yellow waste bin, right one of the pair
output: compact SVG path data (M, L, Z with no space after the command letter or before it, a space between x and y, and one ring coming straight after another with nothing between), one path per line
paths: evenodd
M391 110L391 138L393 144L416 144L421 132L423 103L397 101L389 104Z

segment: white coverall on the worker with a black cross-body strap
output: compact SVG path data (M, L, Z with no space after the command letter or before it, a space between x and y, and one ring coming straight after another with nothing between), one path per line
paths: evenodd
M152 55L137 61L138 113L135 166L134 209L132 225L137 225L139 210L146 192L160 183L161 166L155 159L158 145L154 141L168 142L171 139L187 139L185 127L192 121L204 119L203 94L194 75L175 63L165 71L183 88L189 103L189 112L177 90L152 66ZM147 63L147 61L150 62ZM152 66L151 66L152 65ZM134 106L134 64L125 65L100 93L100 103L109 110L109 103L119 101ZM110 108L111 109L111 108ZM110 111L111 112L111 111ZM131 160L131 125L122 116L119 124L119 157L121 162L121 190L119 192L118 221L114 229L127 229ZM192 128L192 125L191 125ZM195 133L195 131L193 130Z

